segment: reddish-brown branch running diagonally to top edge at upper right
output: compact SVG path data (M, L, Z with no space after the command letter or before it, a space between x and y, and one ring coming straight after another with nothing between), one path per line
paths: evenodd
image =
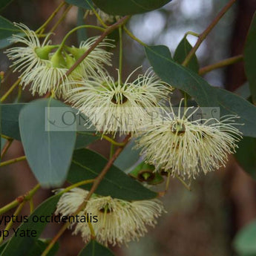
M183 66L187 66L188 62L190 62L192 56L194 56L194 53L196 53L197 49L202 44L203 40L206 39L206 36L209 35L211 30L216 26L216 24L220 21L220 19L224 16L224 14L229 10L230 7L234 4L236 0L230 0L228 4L226 4L222 10L220 10L220 13L217 14L215 19L209 24L209 26L206 28L206 30L203 31L198 36L197 43L194 45L194 47L191 49L191 51L188 53L188 56L186 56L186 59L183 62Z

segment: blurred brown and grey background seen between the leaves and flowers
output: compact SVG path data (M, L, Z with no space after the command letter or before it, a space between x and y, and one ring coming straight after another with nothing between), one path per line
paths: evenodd
M1 15L13 22L22 22L31 29L36 29L47 16L53 12L60 1L44 0L14 0ZM171 53L183 39L184 34L191 30L202 32L226 3L223 0L173 0L160 10L135 15L128 22L131 31L148 45L167 45ZM220 61L229 56L242 53L246 32L256 9L255 0L237 1L234 7L221 19L217 27L197 51L200 67ZM53 37L55 43L61 42L65 33L77 24L78 8L72 7L65 22ZM90 22L96 22L91 16ZM93 36L94 31L87 31ZM193 45L196 38L188 36ZM70 44L78 44L76 35L70 38ZM118 53L118 49L114 50ZM0 53L0 70L7 71L10 63L4 53ZM125 36L125 74L143 66L148 68L148 61L142 47ZM118 66L118 54L114 56L115 74ZM15 81L17 74L7 71L2 90ZM214 70L205 78L211 85L234 91L245 82L243 64L232 65L229 68ZM16 93L13 93L15 95ZM30 93L22 91L22 101L31 99ZM9 102L15 101L11 96ZM108 154L108 144L100 151ZM99 150L96 143L93 148ZM22 155L20 142L15 142L5 156ZM10 179L11 177L11 179ZM11 181L10 181L11 180ZM21 183L22 180L22 183ZM16 163L1 169L0 200L1 205L27 191L35 183L33 175L26 163ZM241 170L232 158L226 168L201 175L192 180L192 191L188 191L178 180L172 180L168 194L163 198L165 209L168 211L159 220L156 229L150 229L140 243L129 243L128 247L114 248L119 256L216 256L235 255L233 238L243 226L256 217L256 186L255 182ZM38 202L42 201L50 191L39 194ZM24 209L24 214L27 209ZM50 237L58 226L49 227L45 236ZM73 256L79 252L82 240L71 237L70 231L62 237L59 255ZM253 255L252 255L253 256Z

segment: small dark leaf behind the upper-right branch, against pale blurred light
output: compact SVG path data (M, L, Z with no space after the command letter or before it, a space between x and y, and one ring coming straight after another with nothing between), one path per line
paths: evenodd
M190 45L186 37L184 37L180 41L180 44L178 45L177 49L175 50L174 61L182 64L186 56L188 56L188 53L190 52L191 49L192 46ZM193 70L195 73L198 73L199 64L197 61L197 56L195 54L191 58L191 61L188 63L188 68Z

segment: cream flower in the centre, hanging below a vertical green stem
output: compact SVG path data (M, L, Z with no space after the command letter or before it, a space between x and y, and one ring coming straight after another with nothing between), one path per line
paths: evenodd
M70 91L68 101L103 134L136 133L148 118L148 111L168 97L171 86L158 79L152 70L129 82L134 72L124 83L119 81L119 73L117 82L108 74L85 80L82 87Z

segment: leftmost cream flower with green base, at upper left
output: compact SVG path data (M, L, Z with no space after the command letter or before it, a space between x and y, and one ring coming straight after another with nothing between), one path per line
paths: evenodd
M11 47L6 50L9 59L13 60L13 65L22 72L22 75L30 72L33 68L38 68L41 65L47 63L48 54L54 46L49 45L49 35L45 37L45 40L40 43L38 36L33 30L30 30L26 25L20 23L14 23L17 29L21 30L24 34L14 34L10 38L12 43L21 43L24 46Z

